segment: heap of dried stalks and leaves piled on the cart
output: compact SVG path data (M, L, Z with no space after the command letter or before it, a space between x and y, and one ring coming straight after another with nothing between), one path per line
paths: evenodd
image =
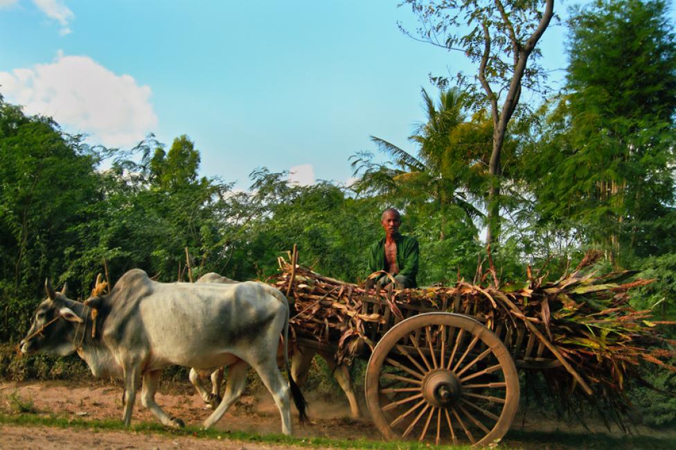
M479 318L504 341L517 366L540 369L564 402L571 393L594 404L603 398L616 413L628 408L628 381L642 381L639 367L652 363L676 371L673 342L663 339L650 311L634 310L629 289L652 280L624 282L634 273L585 271L598 258L587 255L571 273L553 282L533 276L500 285L495 269L481 282L452 287L366 289L279 259L274 284L295 300L292 330L298 337L337 345L339 363L350 363L364 345L418 312L458 312ZM293 276L292 276L293 275ZM491 278L491 282L486 280ZM586 395L585 395L586 393ZM592 395L593 394L593 395ZM599 406L600 408L600 406Z

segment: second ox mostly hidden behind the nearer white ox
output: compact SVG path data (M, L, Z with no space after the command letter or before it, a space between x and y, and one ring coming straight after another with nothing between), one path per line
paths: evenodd
M204 276L200 277L196 281L197 283L220 283L223 285L233 285L239 281L231 280L219 275L215 272L206 273ZM291 349L290 349L291 350ZM283 346L283 343L280 343L277 350L277 363L284 363L286 348ZM335 354L332 352L326 352L323 350L317 350L314 348L303 347L299 351L294 351L292 354L291 361L291 377L299 384L303 386L305 381L308 380L308 372L310 372L310 366L312 365L312 359L314 354L319 354L319 356L326 361L328 369L332 372L336 381L338 381L339 386L342 388L345 396L348 399L350 404L350 415L353 418L360 417L361 413L359 412L359 403L357 402L357 395L355 394L355 388L352 383L352 378L350 377L350 371L347 366L343 364L337 365ZM211 376L211 393L204 388L203 381L207 377ZM204 370L196 370L195 368L190 369L190 382L195 386L199 395L204 399L206 404L211 405L212 408L216 408L217 404L220 403L220 386L223 382L223 369L219 368L211 373Z

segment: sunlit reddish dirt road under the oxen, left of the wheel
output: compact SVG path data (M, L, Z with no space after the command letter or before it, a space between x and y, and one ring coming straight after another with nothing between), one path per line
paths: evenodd
M81 420L119 420L122 415L122 389L118 386L102 384L75 384L57 381L30 383L0 383L0 411L10 414L16 411L17 400L32 404L38 415L56 414ZM168 393L158 393L157 403L165 411L180 417L187 425L199 426L211 410L206 409L202 399L189 386L170 388ZM301 437L324 437L333 439L366 438L377 439L379 434L366 420L351 420L347 405L326 404L321 399L308 395L312 424L299 426L294 411L294 435ZM141 406L139 399L134 407L132 423L157 422L157 418ZM190 449L267 449L271 446L251 442L222 442L213 440L194 440L191 438L168 438L143 433L123 431L69 431L44 427L2 426L0 449L75 449L83 446L97 449L174 449L185 447L184 440L190 442ZM272 396L261 393L260 396L244 396L216 424L215 429L224 431L247 431L250 433L281 433L279 413ZM85 438L86 436L86 438ZM287 447L287 446L285 446ZM279 448L279 447L277 447Z

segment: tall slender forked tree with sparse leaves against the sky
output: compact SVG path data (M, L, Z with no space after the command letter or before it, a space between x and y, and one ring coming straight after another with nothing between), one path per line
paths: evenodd
M553 17L554 0L406 0L406 3L420 20L418 34L422 40L450 51L462 51L479 64L476 78L483 95L478 95L476 85L468 84L464 75L459 73L458 78L461 87L474 89L477 99L490 105L493 132L486 240L489 244L497 242L500 159L507 125L519 104L522 85L535 87L542 77L536 64L528 66L528 58L540 55L535 45Z

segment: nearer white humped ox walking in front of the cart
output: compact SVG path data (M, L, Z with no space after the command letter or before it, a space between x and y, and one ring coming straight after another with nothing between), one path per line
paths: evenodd
M48 281L45 287L48 298L37 308L21 352L67 355L77 351L94 376L122 377L125 425L131 423L142 380L143 406L163 424L183 426L154 400L162 368L172 365L229 368L224 399L204 421L206 428L242 394L249 366L274 397L283 433L292 433L290 391L301 421L305 420L305 400L298 386L291 378L289 384L285 382L276 363L280 334L288 342L289 306L274 287L257 282L229 287L160 283L139 269L125 273L109 295L84 303L66 298L65 287L60 293ZM89 318L91 309L98 312L96 332Z

